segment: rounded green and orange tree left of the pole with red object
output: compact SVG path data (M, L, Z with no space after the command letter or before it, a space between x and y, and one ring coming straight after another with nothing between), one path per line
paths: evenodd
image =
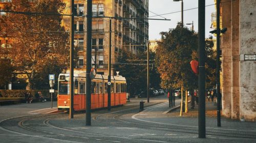
M183 90L194 88L197 76L191 71L190 61L197 51L197 35L180 24L169 32L161 33L156 50L156 62L162 87ZM183 96L181 96L183 103ZM182 115L182 105L181 105Z

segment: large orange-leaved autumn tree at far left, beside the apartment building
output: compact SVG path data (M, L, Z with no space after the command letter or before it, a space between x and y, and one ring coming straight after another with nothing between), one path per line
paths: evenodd
M33 3L13 0L4 7L6 11L24 12L7 12L0 17L0 33L11 39L11 54L8 56L16 67L26 69L24 72L28 75L30 89L34 88L32 81L49 59L57 60L60 65L68 65L69 34L61 26L62 17L58 15L65 6L59 0L38 0Z

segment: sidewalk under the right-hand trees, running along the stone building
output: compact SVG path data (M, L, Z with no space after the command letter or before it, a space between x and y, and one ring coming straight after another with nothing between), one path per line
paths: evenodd
M217 128L256 132L255 122L241 122L239 120L231 120L224 117L221 117L221 127L217 127L217 105L215 101L216 100L214 100L214 102L208 102L208 100L205 101L206 129ZM167 116L172 118L172 124L198 126L198 105L195 102L195 108L191 109L191 104L188 103L188 112L183 112L182 117L180 117L180 107L170 109Z

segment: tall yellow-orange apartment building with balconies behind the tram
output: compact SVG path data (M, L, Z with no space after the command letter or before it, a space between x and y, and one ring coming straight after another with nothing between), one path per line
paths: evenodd
M92 1L92 67L97 73L108 74L108 49L110 42L110 18L112 18L112 74L114 64L123 50L133 53L144 51L148 41L148 20L140 19L148 17L148 0L101 0ZM70 13L70 1L65 1L67 9L64 13ZM74 45L78 48L78 70L86 70L86 1L75 1L74 19ZM105 17L105 18L104 18ZM108 18L107 18L108 17ZM70 27L70 17L63 18L63 24Z

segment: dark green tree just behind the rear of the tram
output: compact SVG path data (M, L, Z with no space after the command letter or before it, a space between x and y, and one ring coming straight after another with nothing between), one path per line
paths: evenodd
M154 60L155 54L150 51L150 59ZM127 92L134 96L141 91L146 91L146 52L139 52L137 55L130 51L123 51L118 57L115 69L120 71L120 75L126 78ZM132 61L131 61L132 60ZM133 61L135 60L135 61ZM159 88L160 77L155 66L150 66L151 88Z

